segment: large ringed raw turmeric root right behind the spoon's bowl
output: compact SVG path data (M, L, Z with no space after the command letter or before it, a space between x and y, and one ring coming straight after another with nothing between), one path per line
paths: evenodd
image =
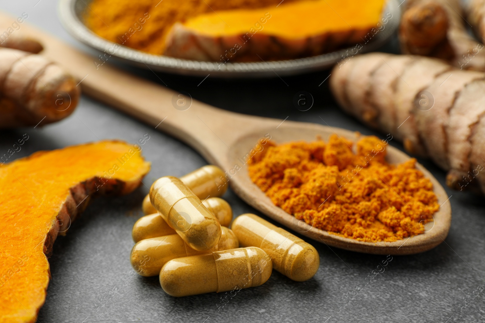
M485 194L485 74L432 58L371 53L340 62L340 106L449 170L447 185Z

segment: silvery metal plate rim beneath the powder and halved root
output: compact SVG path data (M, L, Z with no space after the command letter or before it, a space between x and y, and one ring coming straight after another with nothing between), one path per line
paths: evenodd
M82 43L101 52L108 51L114 43L99 37L89 30L82 22L82 13L86 10L89 1L86 0L60 0L59 17L65 29ZM382 46L393 35L399 26L401 11L397 0L388 0L383 18L387 18L384 29L378 31L367 42L363 40L362 48L356 46L341 49L332 53L287 61L271 62L197 62L178 58L152 55L126 46L120 46L112 56L141 68L150 68L156 71L176 73L192 76L212 77L274 77L297 75L315 72L333 66L344 57L353 54L370 52ZM385 20L386 21L386 20ZM110 51L110 54L112 50Z

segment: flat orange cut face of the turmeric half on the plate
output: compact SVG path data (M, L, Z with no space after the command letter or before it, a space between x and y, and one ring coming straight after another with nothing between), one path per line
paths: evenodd
M384 0L360 3L355 0L303 0L282 3L278 7L212 12L190 18L184 25L208 36L240 35L261 29L258 32L298 39L327 32L369 30L377 26L383 5ZM260 18L267 13L271 17L262 23Z

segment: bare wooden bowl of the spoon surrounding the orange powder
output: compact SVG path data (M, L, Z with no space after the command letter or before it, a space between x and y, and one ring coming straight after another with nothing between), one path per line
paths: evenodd
M263 137L261 136L261 133L270 134L271 139L277 143L285 143L295 140L314 141L317 136L323 138L324 141L328 141L328 138L334 133L341 137L356 141L356 133L341 128L330 128L320 124L302 124L286 121L279 126L278 129L265 128L255 133L246 134L238 139L237 145L229 149L227 158L228 165L239 165L241 169L239 169L238 172L245 175L231 177L229 182L231 188L246 203L275 221L290 228L292 231L322 242L328 246L381 255L406 255L427 251L442 243L446 238L451 224L451 206L448 196L436 178L419 163L416 163L416 168L422 171L424 175L431 180L434 192L438 199L438 204L441 205L440 209L433 215L433 221L428 222L425 226L425 232L423 234L395 242L362 242L315 228L305 223L305 221L299 220L293 215L286 213L280 207L275 206L270 198L268 198L266 194L251 181L247 175L247 164L243 164L244 159L242 156L246 156L246 154L255 146L259 138ZM386 150L386 159L391 164L403 163L411 158L390 145L386 146Z

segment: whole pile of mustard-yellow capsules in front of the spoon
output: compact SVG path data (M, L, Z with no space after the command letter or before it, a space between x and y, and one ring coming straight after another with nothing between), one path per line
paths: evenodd
M262 285L273 268L305 281L320 265L317 250L254 214L232 220L222 169L208 165L156 180L133 226L130 261L142 276L160 276L169 295L239 291ZM241 248L239 246L242 246Z

